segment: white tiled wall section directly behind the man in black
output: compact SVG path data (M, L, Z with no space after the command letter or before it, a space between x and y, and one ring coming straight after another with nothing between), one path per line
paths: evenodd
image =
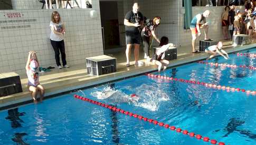
M178 1L166 1L166 0L139 0L139 1L129 1L124 0L119 2L118 10L119 23L124 22L124 17L128 11L131 11L133 3L137 2L139 4L139 11L147 18L153 18L154 16L161 17L161 23L157 27L156 34L158 38L162 36L167 36L169 42L178 44ZM121 4L122 3L122 4ZM122 13L122 14L121 14ZM124 32L124 26L120 26L120 32ZM120 34L120 39L124 39L121 43L125 45L125 34ZM155 44L157 45L157 44Z

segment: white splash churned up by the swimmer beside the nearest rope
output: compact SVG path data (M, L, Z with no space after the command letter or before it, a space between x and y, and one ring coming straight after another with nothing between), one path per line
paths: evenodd
M138 100L130 95L125 94L122 90L115 90L109 86L103 88L103 90L97 90L91 92L91 95L97 97L97 99L107 99L109 103L129 103L134 106L148 109L150 111L157 111L160 102L169 100L168 95L165 91L157 89L157 87L143 84L139 87L129 88L131 92L135 92L138 96Z

